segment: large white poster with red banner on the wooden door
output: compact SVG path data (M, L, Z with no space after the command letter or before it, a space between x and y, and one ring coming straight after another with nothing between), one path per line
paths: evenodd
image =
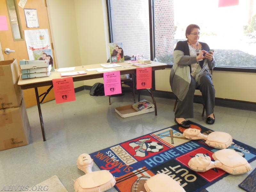
M52 47L51 47L48 29L24 30L24 35L25 35L25 41L27 45L29 60L36 60L34 55L36 55L37 53L34 53L34 52L38 50L41 51L42 53L41 58L43 60L47 60L47 55L45 55L47 53L43 54L44 50L45 52L46 51L51 52L51 54L49 55L52 56Z

